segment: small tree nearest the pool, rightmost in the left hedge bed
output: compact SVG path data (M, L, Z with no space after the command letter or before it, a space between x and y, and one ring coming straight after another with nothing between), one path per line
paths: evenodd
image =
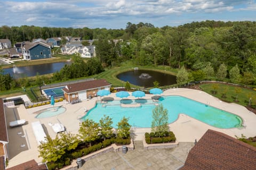
M120 122L117 123L117 136L122 139L127 139L130 136L131 125L129 124L129 118L123 117Z

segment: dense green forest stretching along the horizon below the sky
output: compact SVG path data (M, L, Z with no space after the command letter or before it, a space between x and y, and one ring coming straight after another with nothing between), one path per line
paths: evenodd
M125 29L0 27L0 39L9 38L12 43L64 36L98 39L94 45L103 67L129 60L134 65L185 67L190 81L215 77L249 85L256 83L256 22L207 20L162 28L128 22ZM115 44L113 39L123 41ZM218 78L220 68L227 74Z

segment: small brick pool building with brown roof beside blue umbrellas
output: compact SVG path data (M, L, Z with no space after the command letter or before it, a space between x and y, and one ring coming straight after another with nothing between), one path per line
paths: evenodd
M75 84L68 84L62 89L64 98L68 103L78 99L85 100L97 96L97 92L102 89L110 90L111 84L105 79L89 80Z

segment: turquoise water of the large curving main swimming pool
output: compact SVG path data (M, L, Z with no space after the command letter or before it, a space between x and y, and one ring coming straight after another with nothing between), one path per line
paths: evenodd
M152 111L156 107L152 100L140 107L121 107L121 100L114 100L106 104L97 103L84 117L82 121L91 119L95 122L103 117L104 114L112 118L113 127L117 128L117 123L125 117L129 117L129 123L137 128L151 128ZM115 103L111 105L111 103ZM242 118L217 109L215 107L206 106L195 100L181 96L161 97L159 104L163 104L168 110L169 123L177 120L180 113L186 114L206 124L216 128L228 129L242 125Z

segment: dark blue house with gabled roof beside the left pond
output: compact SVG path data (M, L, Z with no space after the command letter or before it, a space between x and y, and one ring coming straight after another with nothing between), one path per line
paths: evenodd
M51 48L43 43L23 42L21 45L24 60L51 58Z

